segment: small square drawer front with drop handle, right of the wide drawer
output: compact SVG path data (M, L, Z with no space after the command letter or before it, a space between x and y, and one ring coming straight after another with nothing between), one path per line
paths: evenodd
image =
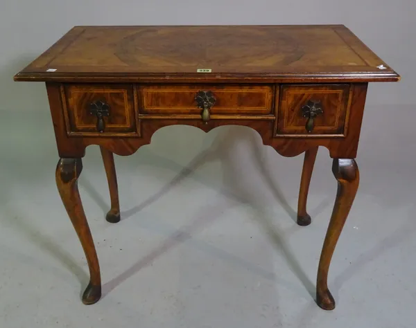
M345 136L349 84L283 85L277 136Z

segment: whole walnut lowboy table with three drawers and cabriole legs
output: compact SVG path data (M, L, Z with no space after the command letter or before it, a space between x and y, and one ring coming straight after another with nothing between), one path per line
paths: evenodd
M333 250L358 188L356 157L368 82L399 75L345 26L76 26L15 75L43 81L60 161L56 182L101 297L98 258L77 180L85 147L99 145L120 221L113 153L131 155L168 125L255 129L283 156L305 152L297 224L318 146L329 149L338 192L318 266L316 302L331 310Z

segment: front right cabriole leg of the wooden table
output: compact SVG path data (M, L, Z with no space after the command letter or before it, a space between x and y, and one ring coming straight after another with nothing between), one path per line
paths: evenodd
M327 284L329 264L331 264L333 251L347 220L360 181L360 173L354 159L333 158L332 172L338 181L338 192L322 247L316 283L316 302L324 310L335 308L335 300Z

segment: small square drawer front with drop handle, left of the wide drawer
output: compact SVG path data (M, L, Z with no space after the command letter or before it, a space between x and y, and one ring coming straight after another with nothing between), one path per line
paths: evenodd
M69 134L136 134L133 87L130 84L64 86Z

